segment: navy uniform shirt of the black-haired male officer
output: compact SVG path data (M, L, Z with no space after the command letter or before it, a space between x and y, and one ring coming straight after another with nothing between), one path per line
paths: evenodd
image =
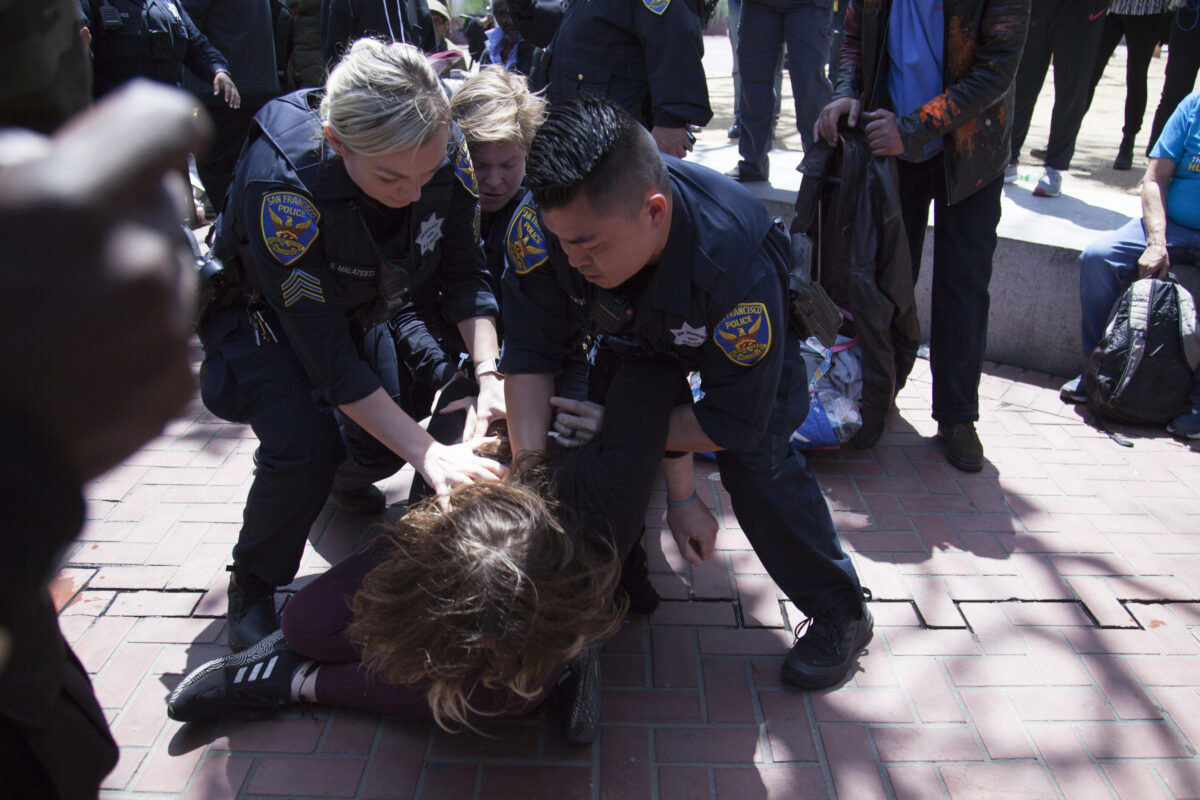
M792 405L808 402L788 387L776 398L788 335L787 236L740 185L704 167L665 161L671 231L659 263L644 267L652 273L620 336L698 371L703 397L694 408L701 428L721 447L745 450L767 431L773 410L786 422L803 414ZM554 374L578 330L590 324L600 289L570 267L532 201L517 209L506 241L503 369Z

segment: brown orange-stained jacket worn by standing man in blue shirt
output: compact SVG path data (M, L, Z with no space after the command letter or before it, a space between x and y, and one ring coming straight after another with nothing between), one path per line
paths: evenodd
M1016 67L1030 24L1030 0L944 0L944 90L899 118L905 152L944 137L947 201L996 180L1010 156ZM834 98L858 97L863 110L889 108L888 18L892 0L850 0Z

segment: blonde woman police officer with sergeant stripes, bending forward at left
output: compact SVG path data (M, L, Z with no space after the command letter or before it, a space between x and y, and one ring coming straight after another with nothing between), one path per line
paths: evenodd
M216 223L234 288L200 325L205 405L259 439L230 567L234 649L277 627L274 588L295 576L331 488L352 511L379 512L372 482L406 461L438 493L502 473L414 421L383 324L433 281L474 362L478 427L503 416L478 215L467 148L414 47L360 40L324 92L256 118Z

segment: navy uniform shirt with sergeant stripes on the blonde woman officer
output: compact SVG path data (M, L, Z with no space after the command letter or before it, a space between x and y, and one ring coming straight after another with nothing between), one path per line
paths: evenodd
M416 203L384 207L362 194L323 143L312 110L319 98L317 90L294 92L256 116L262 134L239 163L218 246L242 243L250 288L278 315L318 402L335 407L380 385L356 345L361 314L379 299L380 258L403 265L413 287L432 277L454 323L494 317L498 308L479 246L479 190L461 137L451 137L450 156Z

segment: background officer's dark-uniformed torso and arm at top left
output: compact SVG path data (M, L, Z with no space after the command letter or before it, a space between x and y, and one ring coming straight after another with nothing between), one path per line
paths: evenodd
M82 0L80 5L91 35L96 97L134 77L179 85L186 66L210 82L212 94L229 108L240 104L229 64L178 0Z

